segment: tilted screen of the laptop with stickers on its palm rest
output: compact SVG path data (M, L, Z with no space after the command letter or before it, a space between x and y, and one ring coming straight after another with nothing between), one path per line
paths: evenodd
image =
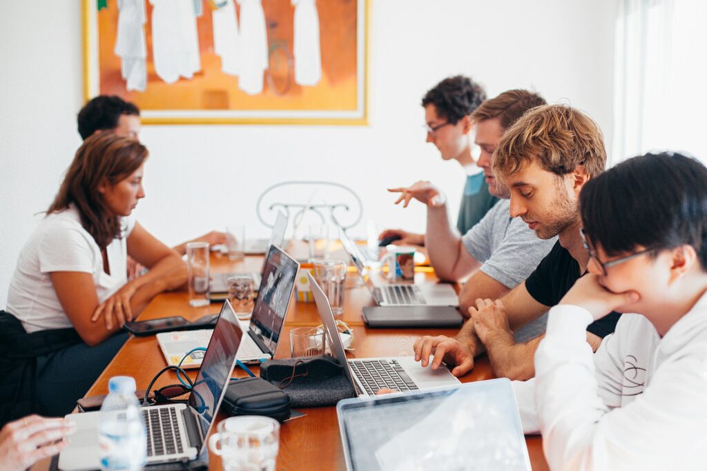
M249 328L273 357L299 268L294 258L278 246L270 246Z

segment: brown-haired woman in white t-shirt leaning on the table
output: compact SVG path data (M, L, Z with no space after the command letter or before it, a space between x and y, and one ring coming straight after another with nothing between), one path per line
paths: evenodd
M8 291L11 316L2 321L17 331L13 340L33 345L44 335L51 342L34 342L42 347L25 355L33 360L29 387L28 374L13 378L21 396L32 398L32 410L18 413L71 412L127 338L117 333L122 324L156 294L185 282L180 256L132 216L145 196L147 156L132 138L100 133L86 139L23 247ZM128 255L149 273L128 281Z

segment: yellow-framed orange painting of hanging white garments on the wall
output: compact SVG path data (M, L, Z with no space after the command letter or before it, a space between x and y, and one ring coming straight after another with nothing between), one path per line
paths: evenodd
M83 0L83 92L144 124L368 124L370 0Z

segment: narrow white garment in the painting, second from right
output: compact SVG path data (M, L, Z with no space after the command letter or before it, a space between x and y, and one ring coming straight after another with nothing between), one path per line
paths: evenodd
M248 95L263 91L263 73L268 68L265 13L260 0L238 0L240 5L240 42L238 88Z

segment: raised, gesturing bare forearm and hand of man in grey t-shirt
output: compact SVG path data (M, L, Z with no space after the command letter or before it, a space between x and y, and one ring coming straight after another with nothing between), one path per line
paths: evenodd
M481 263L467 253L459 232L450 225L446 198L436 186L429 181L417 181L408 188L394 188L388 191L402 193L395 204L404 201L404 208L407 208L413 198L427 206L425 246L437 278L459 281L481 266Z

